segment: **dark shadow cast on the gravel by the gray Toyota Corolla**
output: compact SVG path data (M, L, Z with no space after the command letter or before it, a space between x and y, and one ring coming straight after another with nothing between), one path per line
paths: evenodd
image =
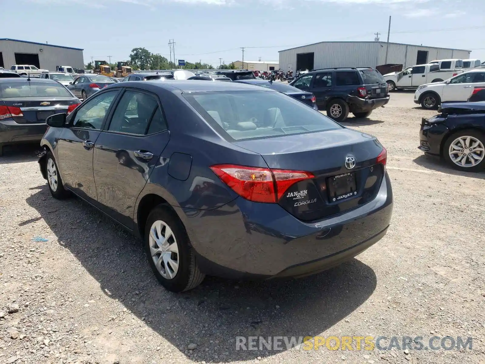
M372 269L352 259L299 280L207 277L195 289L173 294L153 276L138 239L85 202L52 199L44 185L27 203L44 218L59 244L99 282L105 295L195 362L275 355L281 350L236 350L236 336L317 335L356 311L376 288ZM108 328L116 330L118 323L109 321L111 315L116 319L120 312L113 310L106 316ZM190 343L197 344L193 352L187 350ZM283 345L283 349L287 348Z

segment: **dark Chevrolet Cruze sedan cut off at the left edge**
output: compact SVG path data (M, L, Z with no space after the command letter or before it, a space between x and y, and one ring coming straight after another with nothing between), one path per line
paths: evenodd
M80 103L54 80L0 78L0 155L5 145L38 143L48 116L69 114Z

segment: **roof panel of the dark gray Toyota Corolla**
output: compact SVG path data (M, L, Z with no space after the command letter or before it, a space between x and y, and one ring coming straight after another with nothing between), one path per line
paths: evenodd
M277 92L271 88L260 86L253 86L245 83L235 82L209 82L209 81L195 81L195 80L150 80L150 81L128 81L119 84L119 87L129 86L130 83L142 85L151 84L161 87L165 90L173 91L178 89L182 92L209 92L209 91L267 91Z

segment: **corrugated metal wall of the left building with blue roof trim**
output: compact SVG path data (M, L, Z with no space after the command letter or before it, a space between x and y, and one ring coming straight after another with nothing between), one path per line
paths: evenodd
M42 52L40 51L42 50ZM34 53L39 56L40 68L55 71L57 65L84 68L82 50L52 47L48 44L40 45L33 43L14 42L0 40L0 52L3 56L4 68L15 65L15 53Z

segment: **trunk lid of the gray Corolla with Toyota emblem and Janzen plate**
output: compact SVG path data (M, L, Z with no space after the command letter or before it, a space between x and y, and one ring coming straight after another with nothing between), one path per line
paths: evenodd
M356 208L375 198L385 173L382 145L351 129L286 135L234 144L259 153L272 169L305 171L313 178L292 184L278 204L312 221ZM308 147L311 146L311 147Z

